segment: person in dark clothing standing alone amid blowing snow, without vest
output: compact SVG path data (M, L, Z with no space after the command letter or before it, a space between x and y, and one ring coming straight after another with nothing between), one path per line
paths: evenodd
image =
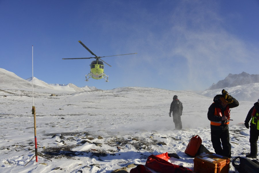
M171 117L171 113L172 113L175 129L182 129L182 121L181 121L182 110L183 110L182 102L180 102L177 95L174 95L173 101L170 106L169 116Z

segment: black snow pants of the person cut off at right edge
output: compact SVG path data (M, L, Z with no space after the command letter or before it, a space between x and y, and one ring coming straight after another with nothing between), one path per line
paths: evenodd
M257 129L256 125L251 123L250 125L250 155L256 156L257 155L257 140L259 136L259 130Z

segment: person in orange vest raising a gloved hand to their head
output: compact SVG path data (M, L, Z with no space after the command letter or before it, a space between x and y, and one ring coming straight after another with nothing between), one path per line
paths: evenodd
M229 143L228 131L229 108L239 106L239 102L224 89L222 90L222 95L216 95L213 101L214 103L210 105L207 114L210 120L212 146L216 154L231 158L231 144Z

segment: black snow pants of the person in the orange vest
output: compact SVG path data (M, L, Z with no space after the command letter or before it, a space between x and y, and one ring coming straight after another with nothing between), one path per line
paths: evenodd
M216 154L231 158L231 144L229 143L228 129L211 130L211 142Z

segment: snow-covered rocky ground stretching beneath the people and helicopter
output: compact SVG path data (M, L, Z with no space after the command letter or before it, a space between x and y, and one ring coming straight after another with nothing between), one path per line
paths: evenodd
M165 152L180 157L171 157L170 162L193 170L193 158L184 150L194 135L214 152L207 119L214 96L141 87L80 92L52 87L34 93L38 152L47 158L38 156L38 162L33 158L32 92L28 88L0 90L0 172L110 173L126 166L129 172L132 163L145 164L149 155ZM174 95L183 103L183 130L174 130L168 114ZM231 110L233 157L250 152L249 129L243 122L255 101L239 101Z

